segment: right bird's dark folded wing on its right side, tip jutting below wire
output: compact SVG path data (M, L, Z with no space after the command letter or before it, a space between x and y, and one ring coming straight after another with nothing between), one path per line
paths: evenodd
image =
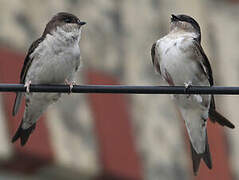
M200 45L200 43L197 40L194 41L194 45L197 48L197 50L199 50L200 54L202 55L202 60L200 62L202 69L204 70L204 72L208 78L210 86L213 86L214 83L213 83L213 77L212 77L212 69L211 69L209 60L208 60L206 54L204 53L202 46ZM209 108L209 117L210 117L210 120L214 123L217 122L220 125L227 126L229 128L235 127L228 119L226 119L225 117L223 117L220 113L218 113L216 111L215 99L214 99L213 95L212 95L211 104L210 104L210 108Z

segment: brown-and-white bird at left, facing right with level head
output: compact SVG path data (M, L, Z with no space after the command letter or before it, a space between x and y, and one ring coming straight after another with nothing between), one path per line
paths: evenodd
M47 107L60 93L31 93L30 84L69 84L80 65L81 31L86 22L68 12L59 12L46 24L43 34L28 49L20 74L26 93L17 92L12 115L15 116L25 95L25 110L20 126L12 138L24 146ZM69 83L71 82L71 83Z

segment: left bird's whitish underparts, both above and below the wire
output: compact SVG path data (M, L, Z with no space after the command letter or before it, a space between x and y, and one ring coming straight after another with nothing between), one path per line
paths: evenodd
M34 58L26 75L25 82L32 84L64 84L72 80L76 68L80 65L79 41L81 29L65 32L57 28L31 54ZM26 94L29 101L23 116L23 129L34 124L48 105L60 98L59 93Z

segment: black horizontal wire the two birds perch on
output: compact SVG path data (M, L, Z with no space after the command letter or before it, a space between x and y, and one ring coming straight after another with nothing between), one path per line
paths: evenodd
M24 84L0 84L0 92L26 92ZM30 92L70 93L69 85L30 85ZM72 93L239 95L239 87L74 85Z

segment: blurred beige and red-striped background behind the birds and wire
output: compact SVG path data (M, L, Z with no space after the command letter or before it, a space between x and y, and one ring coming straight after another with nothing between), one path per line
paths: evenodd
M215 84L238 86L239 0L0 0L0 83L18 83L25 54L53 15L87 21L78 84L166 85L150 49L171 14L193 16ZM192 174L184 122L168 95L64 95L28 143L11 144L23 115L14 93L0 94L0 179L239 179L239 130L208 123L213 169ZM238 96L216 96L238 127Z

